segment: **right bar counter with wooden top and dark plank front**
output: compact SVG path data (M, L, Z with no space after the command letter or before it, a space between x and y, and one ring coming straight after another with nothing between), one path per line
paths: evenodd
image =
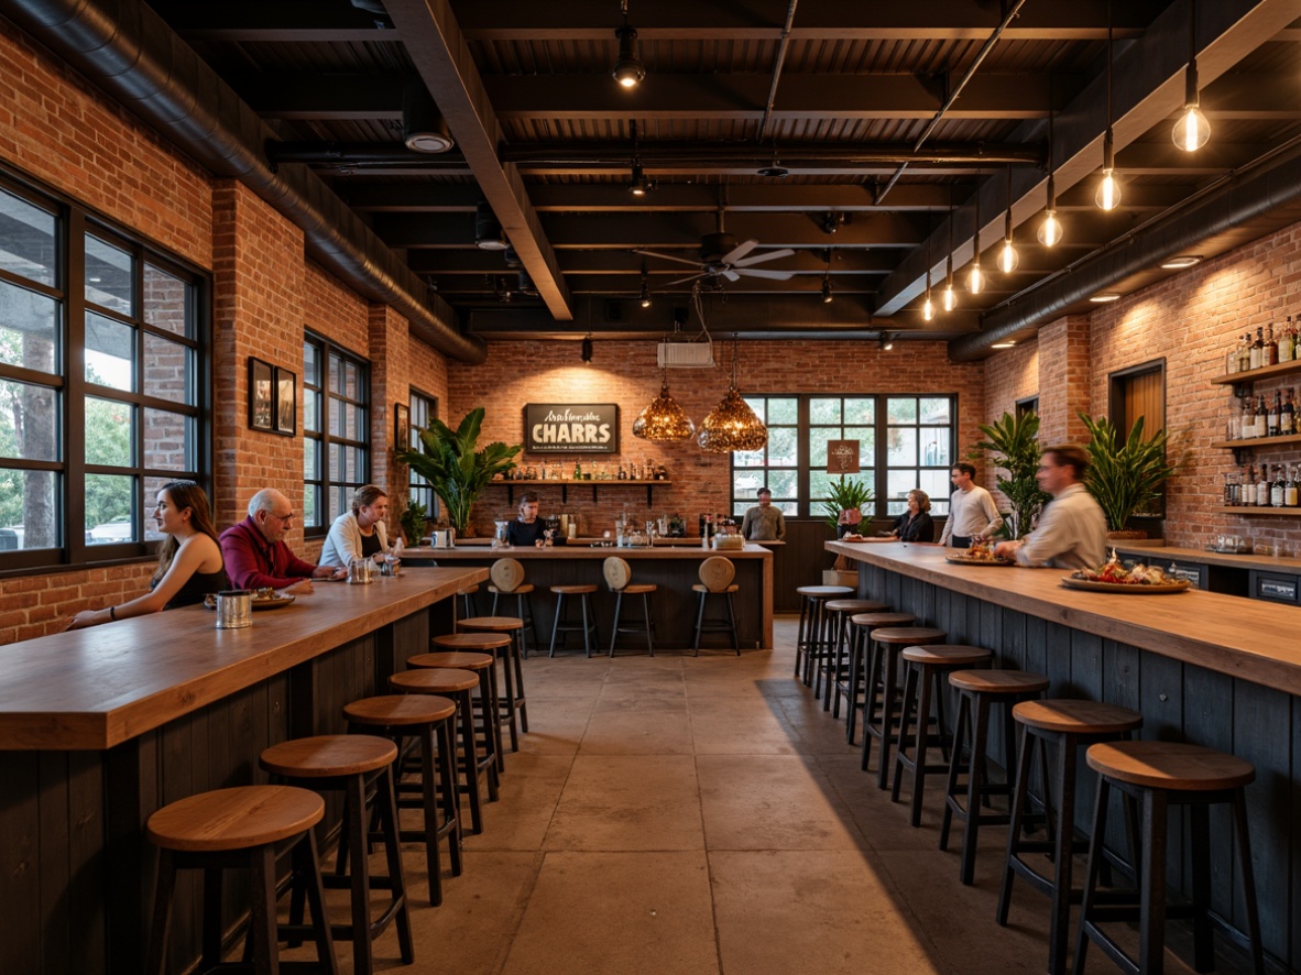
M1049 697L1131 707L1144 715L1144 738L1190 741L1252 762L1257 780L1246 801L1265 949L1288 971L1301 970L1294 919L1301 898L1301 608L1196 590L1081 592L1062 585L1066 569L955 566L937 546L826 547L857 563L860 594L916 614L919 625L943 628L951 644L993 650L999 667L1046 673ZM1086 824L1094 786L1092 776L1081 783L1076 823ZM1172 852L1184 849L1184 828L1181 819L1171 822ZM1231 932L1241 932L1227 815L1211 814L1211 907ZM1108 829L1107 842L1125 849L1119 827ZM1183 855L1171 857L1174 889L1189 889L1188 870Z

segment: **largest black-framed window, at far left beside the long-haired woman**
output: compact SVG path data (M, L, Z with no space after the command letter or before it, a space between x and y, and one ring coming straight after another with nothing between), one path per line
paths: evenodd
M193 269L0 181L0 568L130 558L208 451Z

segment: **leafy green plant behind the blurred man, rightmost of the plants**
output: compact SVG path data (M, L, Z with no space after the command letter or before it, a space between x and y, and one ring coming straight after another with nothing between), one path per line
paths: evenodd
M1162 485L1188 464L1188 451L1176 448L1175 460L1168 460L1167 451L1176 446L1170 432L1160 429L1145 438L1141 416L1124 439L1105 416L1094 419L1081 412L1080 420L1090 437L1085 445L1090 464L1084 486L1107 517L1107 537L1146 538L1146 532L1129 529L1129 520L1155 508Z

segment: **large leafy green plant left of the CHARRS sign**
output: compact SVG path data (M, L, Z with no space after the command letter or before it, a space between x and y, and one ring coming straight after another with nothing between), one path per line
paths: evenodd
M470 534L470 510L484 488L496 474L514 468L514 458L523 450L520 445L507 447L500 441L479 450L483 420L483 407L466 413L455 430L441 420L431 420L429 428L420 430L420 450L397 455L429 482L442 500L448 524L462 537Z

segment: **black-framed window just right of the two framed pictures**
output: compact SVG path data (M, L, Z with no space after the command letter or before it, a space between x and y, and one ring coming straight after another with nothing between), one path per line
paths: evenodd
M324 534L371 478L369 365L320 335L303 342L303 526Z

